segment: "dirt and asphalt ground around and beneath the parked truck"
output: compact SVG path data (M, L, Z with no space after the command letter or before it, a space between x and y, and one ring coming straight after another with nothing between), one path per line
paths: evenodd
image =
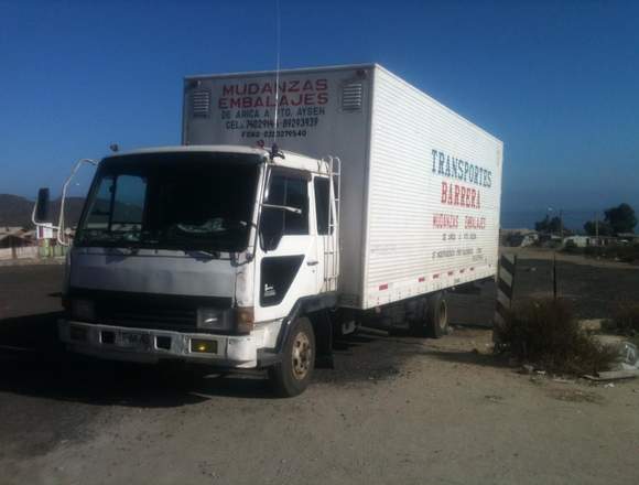
M551 291L519 255L517 298ZM531 268L535 268L532 270ZM584 317L639 270L560 261ZM451 298L440 340L364 330L294 399L247 376L71 357L55 344L58 268L0 269L0 470L8 484L626 484L639 478L639 380L522 375L490 354L494 285ZM465 326L462 326L464 324ZM466 326L470 325L470 326Z

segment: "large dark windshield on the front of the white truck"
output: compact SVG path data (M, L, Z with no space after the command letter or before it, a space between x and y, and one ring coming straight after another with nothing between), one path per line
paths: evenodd
M191 152L106 159L75 244L243 250L259 161L258 155Z

